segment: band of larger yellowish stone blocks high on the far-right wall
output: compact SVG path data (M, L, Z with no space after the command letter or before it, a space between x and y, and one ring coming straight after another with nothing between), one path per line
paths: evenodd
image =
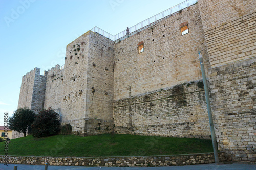
M256 13L205 33L211 67L256 56Z

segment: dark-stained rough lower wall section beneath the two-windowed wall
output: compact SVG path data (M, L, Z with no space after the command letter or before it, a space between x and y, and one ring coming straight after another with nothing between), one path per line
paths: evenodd
M210 139L202 81L118 100L113 116L116 133Z

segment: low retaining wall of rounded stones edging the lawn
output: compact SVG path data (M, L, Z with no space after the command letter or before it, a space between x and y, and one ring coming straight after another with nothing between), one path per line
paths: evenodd
M211 154L195 154L196 156L200 156L201 158L198 157L198 163L209 163L209 162L214 162L214 155L213 153ZM221 161L225 161L226 157L225 154L219 153L219 158ZM45 162L39 162L36 161L38 159L44 159L46 160ZM175 165L189 165L191 162L193 162L193 158L190 158L190 155L177 155L175 156L174 159L172 159L172 162L169 163L168 160L165 159L165 156L159 156L159 157L96 157L96 158L87 158L87 157L68 157L69 163L59 163L57 160L60 159L58 157L14 157L10 156L9 157L9 163L14 163L14 164L34 164L34 165L44 165L46 162L49 163L50 165L74 165L74 166L123 166L123 167L129 167L129 166L145 166L147 167L148 165L152 166L175 166ZM65 158L66 159L66 158ZM104 160L112 160L105 162ZM138 163L141 159L143 159L144 163ZM180 161L183 160L183 161ZM208 162L204 162L203 160L208 160ZM4 162L4 157L0 156L0 163ZM113 162L120 162L120 163L113 163ZM150 163L147 163L150 162Z

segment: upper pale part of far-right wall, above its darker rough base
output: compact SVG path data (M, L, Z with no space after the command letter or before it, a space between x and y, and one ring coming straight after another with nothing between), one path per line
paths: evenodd
M254 0L199 4L211 68L256 55Z

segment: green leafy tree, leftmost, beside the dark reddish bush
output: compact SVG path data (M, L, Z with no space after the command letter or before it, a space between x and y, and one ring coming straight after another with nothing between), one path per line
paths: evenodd
M9 128L23 133L24 137L26 137L27 128L33 123L35 113L28 107L18 108L13 113L13 116L9 119Z

